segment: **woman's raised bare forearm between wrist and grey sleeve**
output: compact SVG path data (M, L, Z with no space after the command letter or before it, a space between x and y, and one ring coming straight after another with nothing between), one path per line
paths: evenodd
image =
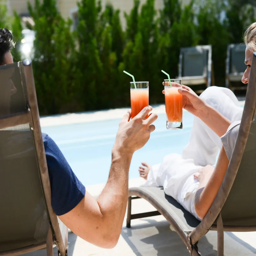
M204 110L198 114L198 117L219 137L227 132L229 125L232 123L208 104L205 104Z

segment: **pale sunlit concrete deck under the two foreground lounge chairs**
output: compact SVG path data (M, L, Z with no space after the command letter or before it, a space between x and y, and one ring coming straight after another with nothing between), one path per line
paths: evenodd
M141 178L129 180L129 187L136 187ZM98 196L104 184L88 186L87 191ZM152 211L154 207L146 200L133 202L132 213ZM126 228L126 217L118 244L114 249L102 249L89 244L73 233L68 236L68 256L189 256L186 246L172 230L163 216L132 220L132 228ZM225 256L256 255L256 232L225 232ZM199 242L202 256L217 256L217 232L210 231ZM45 250L24 254L43 256ZM54 256L57 250L54 248Z

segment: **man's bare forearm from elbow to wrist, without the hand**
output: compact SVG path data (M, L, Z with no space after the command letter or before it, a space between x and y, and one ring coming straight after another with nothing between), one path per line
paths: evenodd
M113 149L108 181L97 200L109 235L119 236L121 233L128 199L131 160L131 153Z

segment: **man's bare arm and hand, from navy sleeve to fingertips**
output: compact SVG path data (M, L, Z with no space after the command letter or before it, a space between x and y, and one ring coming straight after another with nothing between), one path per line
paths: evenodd
M128 199L128 173L133 153L142 148L155 130L156 114L144 108L132 120L131 113L119 125L112 150L112 164L105 188L95 200L87 191L84 199L60 220L77 236L104 248L113 248L120 236Z

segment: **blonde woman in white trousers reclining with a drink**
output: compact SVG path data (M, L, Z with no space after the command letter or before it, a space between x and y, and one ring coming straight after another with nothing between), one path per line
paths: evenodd
M247 67L242 82L247 84L256 51L256 22L247 28L244 42ZM183 108L195 116L187 147L181 155L165 156L161 164L151 167L142 163L139 172L146 180L142 186L164 187L167 195L197 219L203 219L226 174L243 108L228 88L212 86L198 97L189 87L182 87Z

